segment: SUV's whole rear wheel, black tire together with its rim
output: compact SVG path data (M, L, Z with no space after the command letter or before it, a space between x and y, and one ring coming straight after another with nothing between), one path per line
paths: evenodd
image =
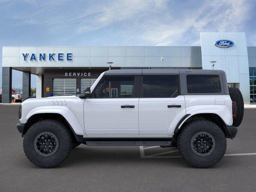
M178 135L181 156L196 168L209 168L226 152L226 136L222 129L208 120L188 123Z

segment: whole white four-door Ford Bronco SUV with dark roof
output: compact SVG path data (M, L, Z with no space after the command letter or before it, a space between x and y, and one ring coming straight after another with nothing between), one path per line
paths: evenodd
M28 159L50 168L79 144L177 146L198 168L218 163L242 122L241 92L221 70L108 70L76 96L26 99L18 131Z

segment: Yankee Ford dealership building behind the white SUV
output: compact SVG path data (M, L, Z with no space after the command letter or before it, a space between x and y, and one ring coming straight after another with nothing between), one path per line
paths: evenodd
M247 47L243 32L200 33L201 46L30 46L3 47L2 102L11 102L12 70L23 72L23 98L80 94L109 69L216 69L229 86L256 104L256 47ZM214 66L213 66L214 65Z

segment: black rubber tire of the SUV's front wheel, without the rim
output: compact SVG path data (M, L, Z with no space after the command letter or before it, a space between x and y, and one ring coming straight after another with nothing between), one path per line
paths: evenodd
M34 148L34 140L38 134L50 132L58 138L58 150L51 156L42 156ZM33 124L26 132L23 140L23 149L27 158L36 166L52 168L62 163L70 154L73 140L70 130L57 120L41 120Z

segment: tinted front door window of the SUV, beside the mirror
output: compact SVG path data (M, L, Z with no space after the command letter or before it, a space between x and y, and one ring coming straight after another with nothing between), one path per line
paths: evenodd
M127 98L134 94L134 76L105 76L95 88L95 98Z

